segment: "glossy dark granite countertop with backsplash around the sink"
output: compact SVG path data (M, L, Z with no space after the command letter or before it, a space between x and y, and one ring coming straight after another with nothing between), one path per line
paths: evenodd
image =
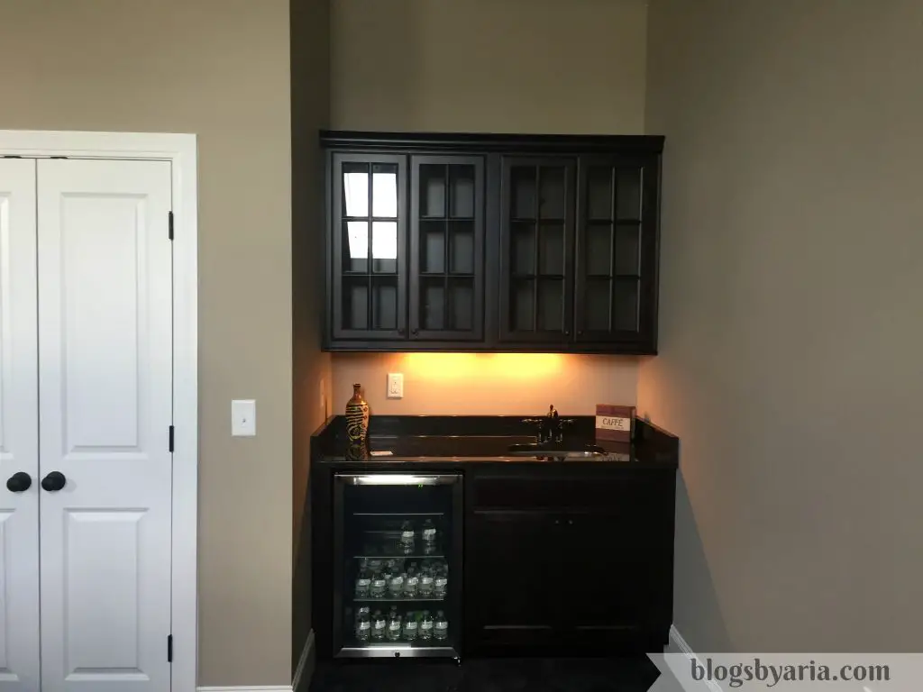
M366 447L350 447L342 416L331 417L312 436L312 459L321 463L543 463L618 464L631 468L677 468L678 438L637 421L633 442L595 439L593 416L574 417L565 447L596 445L605 455L581 459L510 456L510 445L532 444L532 429L511 416L373 416ZM390 452L390 453L389 453Z

